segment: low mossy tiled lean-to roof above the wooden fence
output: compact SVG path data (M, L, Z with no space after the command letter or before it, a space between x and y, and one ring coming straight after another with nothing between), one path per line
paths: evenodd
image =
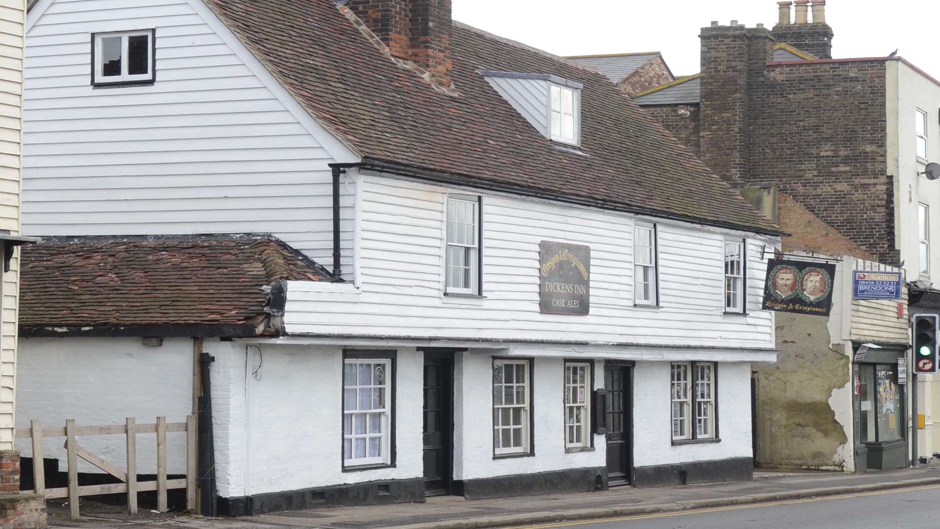
M278 280L329 274L271 235L44 237L24 249L20 327L257 327Z

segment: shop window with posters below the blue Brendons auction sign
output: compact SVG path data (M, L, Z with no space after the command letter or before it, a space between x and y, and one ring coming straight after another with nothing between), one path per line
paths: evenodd
M860 364L857 382L859 433L862 442L899 441L903 394L898 385L896 364Z

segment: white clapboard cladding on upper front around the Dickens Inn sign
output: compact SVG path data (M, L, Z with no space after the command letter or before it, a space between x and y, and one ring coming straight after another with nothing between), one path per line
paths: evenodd
M774 346L773 316L760 311L761 248L772 248L773 241L750 234L749 313L726 314L725 233L659 222L662 306L635 307L631 216L488 194L483 297L446 297L446 193L469 191L369 175L360 175L359 184L357 287L290 282L290 334ZM589 315L540 313L539 244L545 240L590 247Z

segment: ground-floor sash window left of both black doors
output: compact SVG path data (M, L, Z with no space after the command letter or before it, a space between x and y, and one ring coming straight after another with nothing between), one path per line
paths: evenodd
M390 358L347 358L344 362L344 466L391 462L391 375Z

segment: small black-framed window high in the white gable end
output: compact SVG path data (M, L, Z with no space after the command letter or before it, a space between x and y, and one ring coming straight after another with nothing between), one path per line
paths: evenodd
M92 85L152 83L154 30L95 33Z

